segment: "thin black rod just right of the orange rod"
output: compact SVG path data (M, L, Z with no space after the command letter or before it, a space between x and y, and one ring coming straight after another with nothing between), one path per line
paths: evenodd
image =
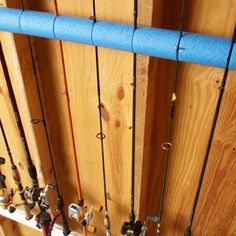
M96 14L96 0L93 0L93 17L92 20L94 24L96 23L97 19ZM98 47L95 46L95 61L96 61L96 78L97 78L97 95L98 95L98 111L99 111L99 127L100 133L97 134L97 138L100 139L101 143L101 157L102 157L102 175L103 175L103 193L104 193L104 202L105 202L105 219L104 219L104 226L105 226L105 235L110 235L110 219L108 214L108 202L107 202L107 183L106 183L106 165L105 165L105 152L104 152L104 142L103 140L106 138L105 134L103 133L103 124L102 124L102 101L101 101L101 84L100 84L100 70L99 70L99 55L98 55Z

